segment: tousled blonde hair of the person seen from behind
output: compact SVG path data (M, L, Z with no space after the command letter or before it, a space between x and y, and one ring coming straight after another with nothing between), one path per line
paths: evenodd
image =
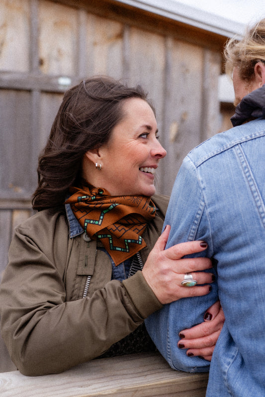
M239 76L250 82L257 62L265 63L265 18L247 29L241 40L232 38L226 43L225 71L230 77L235 67Z

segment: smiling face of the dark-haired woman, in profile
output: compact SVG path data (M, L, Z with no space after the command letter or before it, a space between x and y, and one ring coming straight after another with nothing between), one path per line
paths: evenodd
M97 170L96 185L112 196L152 196L156 169L167 154L158 141L154 112L140 98L124 100L122 112L122 121L98 149L102 169Z

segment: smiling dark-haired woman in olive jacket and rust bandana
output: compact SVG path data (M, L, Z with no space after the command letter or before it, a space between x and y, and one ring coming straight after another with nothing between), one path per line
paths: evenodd
M66 92L39 158L38 213L16 228L0 286L1 333L23 374L153 350L144 320L210 291L213 275L195 271L211 261L182 259L207 244L165 250L169 228L160 236L168 198L154 195L154 172L165 155L141 87L95 77ZM181 285L186 272L196 286ZM201 337L192 354L209 356L213 332L215 322L190 330Z

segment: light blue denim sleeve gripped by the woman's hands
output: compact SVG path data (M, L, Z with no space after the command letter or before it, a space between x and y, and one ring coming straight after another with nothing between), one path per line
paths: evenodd
M211 258L213 244L207 216L207 205L203 196L203 183L197 169L186 157L178 172L172 191L164 226L171 225L166 248L174 244L204 240L208 249L195 256ZM214 272L213 269L209 271ZM161 354L177 370L206 372L209 362L198 357L188 357L186 351L177 347L178 333L203 322L206 310L218 299L217 285L206 296L180 299L165 305L146 320L146 327Z

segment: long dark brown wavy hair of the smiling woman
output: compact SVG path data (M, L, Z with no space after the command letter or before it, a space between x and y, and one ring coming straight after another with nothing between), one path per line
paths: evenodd
M65 93L39 157L33 209L64 203L69 187L78 184L84 154L108 141L123 117L123 101L134 97L150 104L141 86L128 87L110 77L89 78Z

